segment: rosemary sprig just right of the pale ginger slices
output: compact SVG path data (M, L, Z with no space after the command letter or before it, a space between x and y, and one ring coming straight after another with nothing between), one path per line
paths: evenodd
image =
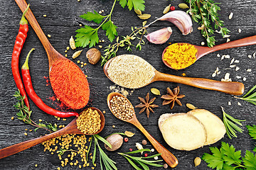
M235 119L233 118L231 115L228 115L227 113L225 113L224 108L221 107L222 111L223 111L223 123L225 125L225 129L227 132L227 135L230 139L232 139L232 137L238 137L236 135L237 131L238 132L242 132L243 130L238 127L238 125L242 126L242 123L245 120L239 120L239 119ZM238 124L238 125L235 125Z

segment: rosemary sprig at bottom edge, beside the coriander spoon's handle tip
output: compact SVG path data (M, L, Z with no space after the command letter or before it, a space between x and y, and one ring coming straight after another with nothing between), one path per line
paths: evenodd
M118 154L122 155L125 159L127 159L127 161L134 167L134 169L137 169L137 170L142 170L142 169L148 170L149 166L147 166L147 165L163 167L163 165L161 165L161 164L156 164L156 162L162 162L163 160L155 160L155 161L147 160L150 158L158 157L161 154L154 154L150 157L133 157L130 155L130 154L137 154L139 152L150 152L150 149L139 149L139 150L132 151L132 152L118 153ZM137 166L137 164L135 164L134 162L139 164L139 166L142 166L142 169L139 168L139 166Z

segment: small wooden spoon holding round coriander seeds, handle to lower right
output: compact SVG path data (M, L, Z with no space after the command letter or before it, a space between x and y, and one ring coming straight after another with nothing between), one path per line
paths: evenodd
M118 100L120 100L120 98L122 98L124 100L125 105L128 108L131 108L131 113L133 113L132 115L128 117L120 117L120 115L117 115L117 110L116 108L114 108L114 106L112 107L112 99L113 98L118 98ZM174 154L171 154L171 152L169 152L169 150L167 150L165 147L163 147L163 145L161 145L159 142L157 142L154 137L152 137L149 132L147 132L142 124L139 123L139 120L137 120L136 118L136 114L134 112L134 107L132 106L132 103L126 98L124 97L122 94L119 93L111 93L107 96L107 106L110 108L110 111L113 113L113 115L115 117L117 117L119 120L123 120L124 122L127 123L132 123L132 125L136 126L139 130L142 131L142 133L146 136L146 138L149 140L149 142L151 142L151 144L153 145L153 147L156 149L157 152L161 153L161 157L164 159L164 161L169 164L169 166L171 166L172 168L174 168L175 166L178 165L178 159L174 156Z

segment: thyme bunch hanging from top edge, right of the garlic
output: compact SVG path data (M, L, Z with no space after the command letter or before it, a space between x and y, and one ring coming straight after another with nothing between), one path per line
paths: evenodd
M193 21L198 23L201 30L201 34L206 38L208 47L213 47L215 45L215 36L211 36L215 33L215 30L220 29L218 33L221 33L223 38L225 35L230 33L228 28L224 27L224 22L220 20L218 11L220 7L213 0L184 0L189 3L188 12L191 14ZM213 30L213 26L215 30Z

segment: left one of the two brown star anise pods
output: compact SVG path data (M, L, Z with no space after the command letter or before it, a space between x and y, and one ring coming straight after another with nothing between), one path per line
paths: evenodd
M153 104L154 100L156 98L152 98L150 101L149 101L149 93L146 94L146 98L141 98L141 97L138 97L139 98L139 101L141 101L142 103L139 103L137 106L135 106L135 108L142 108L141 111L139 113L142 113L146 110L146 115L147 117L149 118L149 113L150 111L152 113L154 113L154 111L152 110L152 108L156 108L156 107L159 107L158 105L155 105Z

